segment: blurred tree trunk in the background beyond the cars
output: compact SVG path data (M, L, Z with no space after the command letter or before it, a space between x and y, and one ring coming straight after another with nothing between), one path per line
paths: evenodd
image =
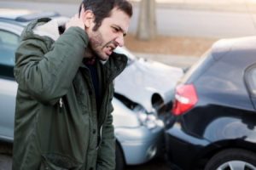
M157 34L155 17L155 0L141 0L137 27L137 39L154 39Z

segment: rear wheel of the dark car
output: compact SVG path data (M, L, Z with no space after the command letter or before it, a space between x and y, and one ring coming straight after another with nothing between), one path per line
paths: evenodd
M241 149L229 149L218 152L208 161L205 170L255 170L256 154Z

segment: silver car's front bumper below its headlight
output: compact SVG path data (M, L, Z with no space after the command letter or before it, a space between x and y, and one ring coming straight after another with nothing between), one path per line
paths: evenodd
M124 150L127 165L137 165L147 162L159 155L164 147L164 128L147 127L116 128L116 138Z

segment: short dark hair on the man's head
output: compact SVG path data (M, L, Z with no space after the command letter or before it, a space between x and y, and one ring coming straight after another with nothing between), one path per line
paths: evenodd
M132 6L131 3L127 0L83 0L79 7L79 14L81 12L82 5L84 5L85 10L91 10L95 15L95 26L93 31L96 31L101 25L102 20L111 15L111 10L113 8L118 8L132 16Z

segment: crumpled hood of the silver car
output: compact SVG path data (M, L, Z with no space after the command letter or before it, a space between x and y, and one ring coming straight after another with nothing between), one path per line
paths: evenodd
M143 105L148 111L154 111L152 96L160 94L167 104L172 100L173 89L183 76L178 67L161 64L148 59L137 59L126 48L117 48L117 53L129 54L129 64L115 81L115 92ZM129 77L129 79L127 79ZM170 78L166 78L170 77ZM136 90L131 90L136 89Z

